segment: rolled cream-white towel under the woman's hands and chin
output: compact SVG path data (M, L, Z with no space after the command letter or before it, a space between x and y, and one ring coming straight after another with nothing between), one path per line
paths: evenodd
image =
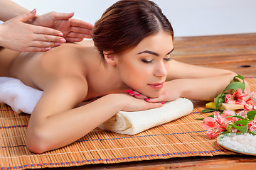
M161 108L134 112L120 111L105 123L102 123L99 128L121 134L135 135L188 115L192 110L193 103L191 101L186 98L178 98L176 101L165 103Z

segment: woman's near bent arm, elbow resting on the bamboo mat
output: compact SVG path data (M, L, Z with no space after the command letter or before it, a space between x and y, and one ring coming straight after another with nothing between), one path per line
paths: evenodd
M42 153L75 142L119 111L140 111L162 106L127 94L110 94L75 108L87 95L80 77L54 79L46 86L28 123L27 147Z

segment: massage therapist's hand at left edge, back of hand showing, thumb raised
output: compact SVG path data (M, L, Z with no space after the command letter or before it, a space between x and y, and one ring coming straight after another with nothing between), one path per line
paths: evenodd
M65 42L59 30L25 23L35 15L36 10L33 10L2 23L0 45L20 52L43 52Z

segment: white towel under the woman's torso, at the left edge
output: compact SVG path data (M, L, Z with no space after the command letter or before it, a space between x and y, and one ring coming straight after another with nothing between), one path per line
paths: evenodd
M0 103L6 103L16 113L31 114L43 91L26 86L20 80L0 77Z

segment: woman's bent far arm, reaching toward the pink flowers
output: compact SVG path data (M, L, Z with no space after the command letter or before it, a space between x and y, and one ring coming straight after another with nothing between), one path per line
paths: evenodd
M236 75L225 69L199 67L173 60L162 94L148 101L174 101L179 97L213 101Z

